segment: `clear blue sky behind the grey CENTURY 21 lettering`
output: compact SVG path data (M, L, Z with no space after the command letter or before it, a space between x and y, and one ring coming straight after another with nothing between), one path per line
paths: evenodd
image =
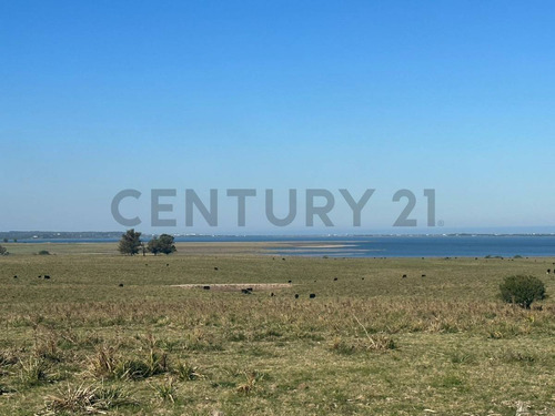
M555 231L554 16L553 1L2 1L0 231L121 230L111 200L137 189L122 213L141 231L303 232L307 187L335 195L326 232L391 230L400 189L418 225L435 189L445 230ZM245 229L230 187L258 190ZM299 221L275 229L264 189L285 207L290 187ZM376 190L362 227L340 187ZM161 201L176 227L150 226L151 189L176 189ZM216 230L184 226L185 189L220 190Z

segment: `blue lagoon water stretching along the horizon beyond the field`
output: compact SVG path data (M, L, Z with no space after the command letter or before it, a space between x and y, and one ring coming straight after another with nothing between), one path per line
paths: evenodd
M376 236L181 236L176 242L292 243L270 254L340 257L555 256L555 235L376 235ZM21 242L43 242L27 240ZM51 240L57 243L99 243L115 240ZM306 244L304 244L306 243Z

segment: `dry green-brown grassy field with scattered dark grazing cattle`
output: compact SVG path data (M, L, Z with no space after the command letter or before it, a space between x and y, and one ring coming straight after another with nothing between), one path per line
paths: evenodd
M4 245L1 415L555 415L555 301L496 297L517 273L555 296L555 258Z

